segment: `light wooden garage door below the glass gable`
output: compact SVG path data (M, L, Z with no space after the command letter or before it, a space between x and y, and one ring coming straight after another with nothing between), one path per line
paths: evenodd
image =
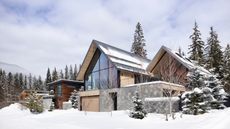
M83 111L99 112L99 96L85 96L81 98Z

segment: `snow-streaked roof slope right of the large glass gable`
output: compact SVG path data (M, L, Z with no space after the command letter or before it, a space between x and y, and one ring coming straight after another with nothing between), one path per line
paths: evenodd
M98 47L108 56L118 69L128 70L138 73L146 73L146 68L150 63L149 59L140 57L125 50L110 46L108 44L94 40Z

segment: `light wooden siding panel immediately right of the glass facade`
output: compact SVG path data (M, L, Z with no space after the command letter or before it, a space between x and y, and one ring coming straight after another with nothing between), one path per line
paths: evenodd
M120 72L120 86L125 87L131 84L135 84L134 73L121 71Z

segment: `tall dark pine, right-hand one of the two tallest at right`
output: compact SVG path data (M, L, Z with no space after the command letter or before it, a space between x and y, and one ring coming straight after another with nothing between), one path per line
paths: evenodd
M223 53L221 51L220 41L217 33L211 27L210 37L208 38L206 51L206 68L213 74L217 75L218 79L223 78Z

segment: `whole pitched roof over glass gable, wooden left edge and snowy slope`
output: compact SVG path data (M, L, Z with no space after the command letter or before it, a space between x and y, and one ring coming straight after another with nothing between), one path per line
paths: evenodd
M93 40L82 63L77 80L83 80L84 74L93 58L96 49L103 52L117 69L146 74L149 59L137 56L125 50L110 46L97 40Z

